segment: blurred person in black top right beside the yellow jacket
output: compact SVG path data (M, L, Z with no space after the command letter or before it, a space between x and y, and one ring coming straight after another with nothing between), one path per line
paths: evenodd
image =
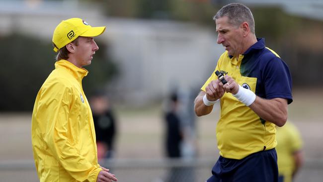
M91 108L96 133L98 159L111 158L114 153L116 119L109 99L103 93L91 97Z

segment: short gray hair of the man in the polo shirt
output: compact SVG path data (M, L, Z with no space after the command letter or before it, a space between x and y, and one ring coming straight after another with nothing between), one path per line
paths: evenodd
M214 20L228 16L229 23L239 26L246 21L249 24L250 31L254 34L254 19L250 9L241 3L231 3L223 6L213 17Z

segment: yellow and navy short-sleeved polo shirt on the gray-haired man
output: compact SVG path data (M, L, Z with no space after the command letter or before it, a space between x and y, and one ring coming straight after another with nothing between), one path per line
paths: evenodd
M224 52L215 71L231 76L239 85L265 98L292 100L292 79L288 66L263 38L246 50L239 58ZM202 91L218 79L215 71L205 82ZM231 93L220 99L221 112L216 128L218 148L224 158L242 159L252 153L269 150L277 145L275 124L265 121Z

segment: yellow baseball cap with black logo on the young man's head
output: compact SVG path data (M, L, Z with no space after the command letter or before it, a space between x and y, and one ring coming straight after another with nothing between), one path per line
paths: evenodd
M70 18L63 20L54 30L53 43L56 45L54 51L57 52L79 36L95 37L102 34L105 26L91 27L81 18Z

